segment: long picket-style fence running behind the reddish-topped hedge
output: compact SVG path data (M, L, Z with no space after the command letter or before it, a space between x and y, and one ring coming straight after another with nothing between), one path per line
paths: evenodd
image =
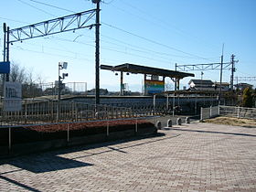
M74 101L23 100L19 112L5 112L0 105L0 126L44 123L75 123L93 120L152 116L157 109L113 107Z

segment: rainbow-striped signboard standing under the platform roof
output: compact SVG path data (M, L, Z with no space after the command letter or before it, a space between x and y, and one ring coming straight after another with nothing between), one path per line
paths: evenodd
M144 91L146 94L155 94L165 91L165 81L144 80Z

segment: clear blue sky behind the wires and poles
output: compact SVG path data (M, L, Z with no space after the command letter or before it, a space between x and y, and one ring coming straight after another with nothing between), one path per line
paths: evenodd
M93 8L91 0L1 0L1 53L4 22L14 29ZM103 0L101 64L175 69L175 63L219 63L224 45L224 62L230 61L231 54L239 60L235 77L255 77L255 10L255 0ZM94 22L92 17L90 23ZM68 69L62 72L69 77L63 82L87 82L88 90L95 86L94 59L94 27L27 39L10 47L10 60L32 71L35 80L58 80L58 63L66 61ZM120 75L100 72L101 88L119 91ZM201 71L187 72L201 79ZM219 70L203 73L204 80L219 81ZM229 82L230 74L230 69L224 70L223 81ZM143 79L140 74L124 75L130 91L142 91ZM188 87L190 79L181 80L181 87ZM172 80L166 78L165 83L174 89ZM256 85L256 81L247 83Z

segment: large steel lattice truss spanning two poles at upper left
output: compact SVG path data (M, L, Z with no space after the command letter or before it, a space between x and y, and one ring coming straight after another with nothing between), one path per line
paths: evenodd
M77 14L61 16L59 18L39 22L37 24L11 29L9 30L11 39L7 43L14 43L34 37L54 35L79 28L95 27L95 24L87 24L95 14L96 9L91 9Z

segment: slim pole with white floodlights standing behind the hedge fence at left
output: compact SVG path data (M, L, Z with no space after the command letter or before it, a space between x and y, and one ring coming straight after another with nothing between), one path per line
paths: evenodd
M60 70L61 69L67 69L68 68L68 62L59 62L59 78L58 78L58 108L57 108L57 121L59 121L59 112L60 112L60 92L62 89L62 80L65 79L65 77L68 77L68 73L62 73L62 77L60 76Z

